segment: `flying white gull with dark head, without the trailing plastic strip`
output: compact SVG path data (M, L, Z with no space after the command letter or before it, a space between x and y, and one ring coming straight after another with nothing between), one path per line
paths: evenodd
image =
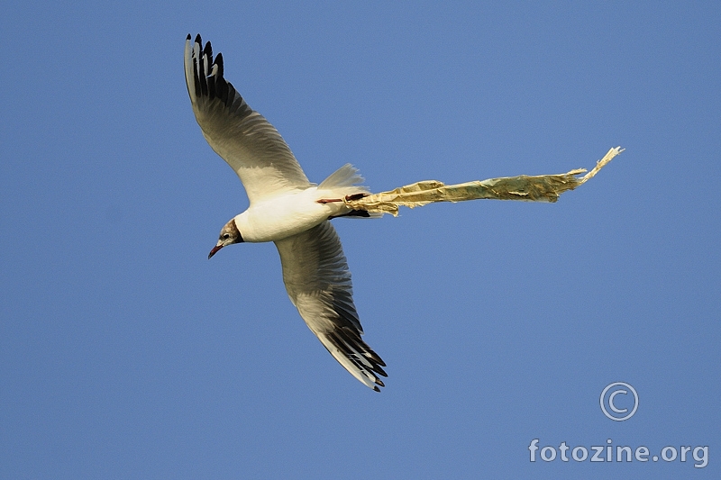
M386 364L360 336L351 271L330 220L378 217L343 200L369 195L356 168L346 164L320 185L308 181L278 131L251 109L223 77L223 55L210 41L187 35L187 93L205 140L240 177L248 209L225 223L208 258L234 243L272 241L283 283L308 328L333 358L376 392Z

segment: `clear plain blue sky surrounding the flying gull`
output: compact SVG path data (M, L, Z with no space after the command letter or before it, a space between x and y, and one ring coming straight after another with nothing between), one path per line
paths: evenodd
M0 477L721 477L721 6L479 4L6 3ZM206 258L247 198L190 108L197 32L316 182L626 150L557 204L334 221L376 394L308 331L273 245ZM616 381L628 421L599 406ZM531 462L533 439L708 465Z

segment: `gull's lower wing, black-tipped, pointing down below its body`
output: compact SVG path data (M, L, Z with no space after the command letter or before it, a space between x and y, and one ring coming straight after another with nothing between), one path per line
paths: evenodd
M275 242L290 301L338 362L376 392L386 364L360 339L351 272L331 222Z

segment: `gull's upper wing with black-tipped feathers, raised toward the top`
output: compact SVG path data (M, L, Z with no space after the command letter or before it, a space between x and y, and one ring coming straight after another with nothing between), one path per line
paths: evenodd
M252 202L310 186L278 131L223 77L223 55L187 36L186 84L205 140L241 177Z

